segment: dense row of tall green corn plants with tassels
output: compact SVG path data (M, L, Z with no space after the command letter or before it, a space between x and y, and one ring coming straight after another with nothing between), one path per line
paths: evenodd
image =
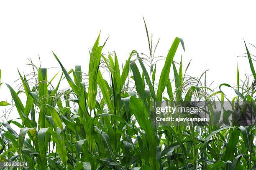
M33 79L18 71L22 90L6 86L20 121L0 124L1 161L26 161L28 167L19 169L31 170L255 169L255 124L168 126L157 124L154 114L159 101L165 100L177 103L220 97L230 103L251 101L255 106L256 75L247 46L253 82L241 81L237 68L237 86L224 83L214 92L201 80L206 71L200 78L190 77L182 59L174 61L178 46L185 50L181 38L174 39L164 67L159 68L154 56L158 43L153 48L147 28L146 33L149 56L133 50L122 66L115 52L102 54L99 35L87 70L75 66L67 71L61 57L53 53L62 70L55 85L52 82L57 76L49 78L46 68L34 67ZM103 72L109 79L104 79ZM70 86L65 91L59 89L64 81ZM225 98L222 86L233 88L237 96ZM21 92L26 101L20 100ZM2 107L7 105L0 102Z

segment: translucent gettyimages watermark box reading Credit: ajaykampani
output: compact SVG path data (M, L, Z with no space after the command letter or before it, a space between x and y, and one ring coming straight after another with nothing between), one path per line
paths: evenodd
M163 125L255 125L255 103L191 101L156 103L152 118Z

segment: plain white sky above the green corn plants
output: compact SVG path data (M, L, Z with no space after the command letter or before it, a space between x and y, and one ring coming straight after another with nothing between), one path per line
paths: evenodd
M174 38L182 37L186 52L178 52L174 60L182 53L187 65L192 58L189 75L199 77L207 64L214 87L236 85L237 63L241 76L251 73L248 60L237 56L246 52L243 38L256 44L255 7L255 0L0 1L1 81L15 87L16 67L27 73L27 58L38 63L38 55L43 67L59 67L51 50L67 70L82 65L87 72L88 49L100 30L101 44L110 35L105 51L116 50L120 63L132 50L148 54L144 16L153 41L161 37L157 55L166 55ZM253 54L255 49L248 47ZM1 100L10 101L5 85Z

